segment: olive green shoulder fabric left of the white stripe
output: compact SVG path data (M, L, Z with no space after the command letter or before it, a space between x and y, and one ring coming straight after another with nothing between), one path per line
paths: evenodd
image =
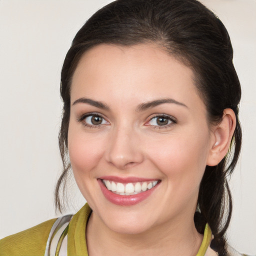
M44 255L46 241L55 220L55 218L47 220L39 225L1 239L0 256Z

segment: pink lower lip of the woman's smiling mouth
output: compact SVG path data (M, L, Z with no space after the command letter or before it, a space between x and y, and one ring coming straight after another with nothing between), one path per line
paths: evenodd
M111 191L109 191L105 185L102 183L101 179L98 179L99 186L101 188L102 193L106 197L106 199L114 204L117 205L123 205L123 206L128 206L128 205L134 205L137 204L144 199L146 199L158 186L159 183L157 183L155 186L153 186L151 189L148 189L146 191L137 193L137 194L132 194L132 195L120 195L120 194L115 194Z

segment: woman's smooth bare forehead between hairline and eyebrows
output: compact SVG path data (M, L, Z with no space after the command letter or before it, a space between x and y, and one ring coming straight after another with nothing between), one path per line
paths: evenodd
M201 104L193 71L158 45L119 46L100 44L83 54L72 78L71 101L140 101L171 97Z

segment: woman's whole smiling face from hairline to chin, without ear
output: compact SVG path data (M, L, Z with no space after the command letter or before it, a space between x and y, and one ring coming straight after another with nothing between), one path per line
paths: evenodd
M101 44L80 59L68 150L103 225L139 233L192 221L213 141L193 81L190 68L152 44Z

